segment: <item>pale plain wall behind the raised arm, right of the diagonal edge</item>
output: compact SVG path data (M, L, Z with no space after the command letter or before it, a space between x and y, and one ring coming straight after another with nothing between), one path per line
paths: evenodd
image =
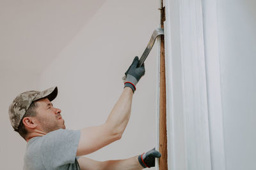
M159 24L159 2L117 1L103 4L42 73L40 87L54 85L68 129L105 122L120 96L122 76L134 56L145 50ZM124 159L154 148L156 141L156 46L137 85L130 122L120 141L88 155L96 160Z

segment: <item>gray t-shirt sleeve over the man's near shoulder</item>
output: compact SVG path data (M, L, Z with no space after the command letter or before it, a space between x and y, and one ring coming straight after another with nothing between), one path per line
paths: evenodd
M58 129L46 134L40 149L45 169L73 164L76 160L80 135L80 131L67 129Z

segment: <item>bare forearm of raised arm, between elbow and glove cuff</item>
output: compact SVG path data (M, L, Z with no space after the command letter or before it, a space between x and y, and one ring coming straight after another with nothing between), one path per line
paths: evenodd
M125 87L105 123L113 128L116 133L121 135L124 132L131 115L132 96L132 89Z

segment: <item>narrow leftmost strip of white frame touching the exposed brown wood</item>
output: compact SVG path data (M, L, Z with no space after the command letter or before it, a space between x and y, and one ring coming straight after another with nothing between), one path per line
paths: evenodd
M179 1L165 1L166 22L166 118L168 132L168 169L186 169L184 115L180 60ZM168 29L170 28L170 29ZM169 46L169 48L168 48ZM176 114L175 114L176 113Z

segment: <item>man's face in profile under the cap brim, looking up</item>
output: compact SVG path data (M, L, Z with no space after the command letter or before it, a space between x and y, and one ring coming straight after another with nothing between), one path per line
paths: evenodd
M36 102L36 119L38 125L46 133L55 131L57 129L66 129L65 121L61 117L61 110L54 108L49 99L40 99Z

